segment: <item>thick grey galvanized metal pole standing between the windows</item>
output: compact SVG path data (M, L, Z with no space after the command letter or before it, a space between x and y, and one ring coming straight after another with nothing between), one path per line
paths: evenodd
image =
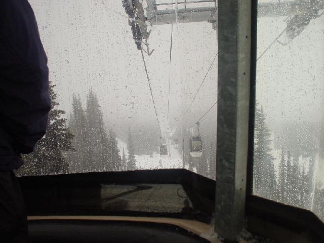
M251 0L218 2L215 230L235 242L244 226L251 59Z

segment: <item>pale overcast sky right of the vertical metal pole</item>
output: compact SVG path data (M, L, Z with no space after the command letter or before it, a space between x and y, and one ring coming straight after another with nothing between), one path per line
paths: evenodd
M287 16L258 19L258 57L286 28ZM285 41L285 34L279 38ZM257 62L257 99L269 123L318 122L324 105L324 16L293 41L276 42ZM271 121L270 121L271 120Z

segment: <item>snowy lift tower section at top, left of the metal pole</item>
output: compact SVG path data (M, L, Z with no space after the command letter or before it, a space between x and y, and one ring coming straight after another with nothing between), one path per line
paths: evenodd
M192 22L210 22L217 29L216 0L121 0L125 12L129 17L134 41L138 50L142 50L142 44L149 51L148 38L151 31L147 26L178 24Z

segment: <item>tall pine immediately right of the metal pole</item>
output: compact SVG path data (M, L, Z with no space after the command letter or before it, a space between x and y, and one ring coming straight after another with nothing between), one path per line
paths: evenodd
M266 116L262 107L256 108L254 136L254 186L257 194L272 198L275 194L276 178L270 130L266 125Z

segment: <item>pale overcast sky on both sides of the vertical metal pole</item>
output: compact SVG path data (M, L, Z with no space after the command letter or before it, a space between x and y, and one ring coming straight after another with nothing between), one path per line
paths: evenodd
M113 0L30 2L49 56L50 79L57 85L63 109L70 111L72 93L85 99L88 90L93 88L108 123L120 124L130 119L140 123L143 117L154 122L141 54L121 3ZM286 18L259 18L258 55L286 27ZM324 86L323 26L324 16L311 20L290 44L275 43L258 61L257 99L273 122L319 119ZM181 106L185 109L190 104L217 53L217 33L211 24L179 24L173 30L171 66L171 25L153 26L149 44L155 51L150 57L146 55L158 116L164 124L167 123L169 72L169 120L174 120L179 117ZM199 118L216 101L216 93L217 61L184 120L191 123Z

